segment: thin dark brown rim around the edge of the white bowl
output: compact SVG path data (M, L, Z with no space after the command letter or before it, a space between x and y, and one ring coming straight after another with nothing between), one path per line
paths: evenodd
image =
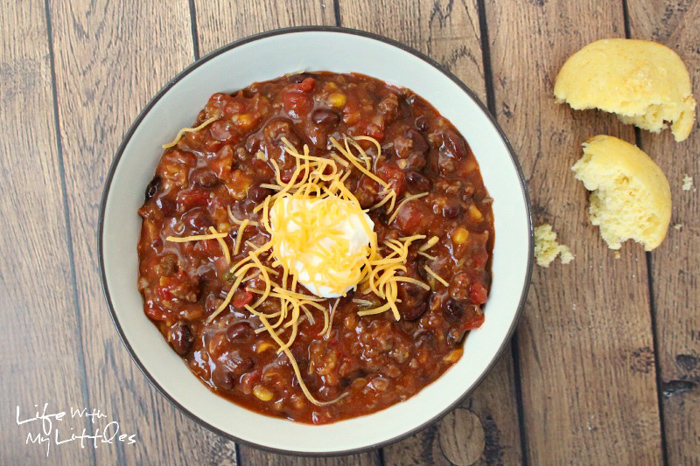
M390 439L384 440L382 442L377 442L373 443L364 447L360 448L353 448L353 449L346 449L346 450L338 450L338 451L332 451L332 452L302 452L302 451L296 451L296 450L284 450L284 449L279 449L279 448L274 448L274 447L269 447L267 445L261 445L257 444L254 442L249 442L247 440L242 440L228 432L225 432L221 429L218 429L217 427L212 426L209 424L207 421L204 419L198 417L194 413L190 412L188 409L186 409L183 405L181 405L175 398L173 398L163 387L160 386L160 384L155 380L155 378L148 372L148 370L145 368L141 360L139 359L138 355L134 351L133 347L129 343L129 341L126 339L124 332L122 330L121 324L119 323L119 318L117 316L117 313L115 311L114 305L112 303L112 298L110 296L110 291L109 287L107 285L107 276L106 276L106 271L105 271L105 264L104 264L104 219L105 219L105 211L106 211L106 205L107 205L107 199L109 198L111 186L112 186L112 180L114 179L114 174L116 172L117 166L119 165L119 162L122 158L122 155L124 154L124 150L126 149L126 146L129 144L134 132L136 129L141 125L143 119L146 117L146 115L152 110L153 106L171 89L173 88L179 81L181 81L185 76L189 75L191 72L199 68L201 65L204 63L208 62L209 60L212 60L213 58L216 58L217 56L228 52L229 50L232 50L236 47L239 47L241 45L258 41L261 39L266 39L269 37L274 37L274 36L279 36L279 35L284 35L284 34L292 34L292 33L299 33L299 32L330 32L330 33L337 33L337 34L348 34L348 35L355 35L355 36L361 36L365 37L368 39L373 39L377 40L380 42L383 42L388 45L392 45L400 50L403 50L405 52L408 52L415 56L416 58L426 62L427 64L431 65L435 69L437 69L439 72L447 76L449 79L451 79L457 86L460 87L460 89L465 92L475 103L476 105L481 109L481 111L484 113L484 115L489 119L491 124L494 126L496 131L498 131L499 136L503 140L506 149L508 151L508 155L511 158L511 162L513 163L513 166L515 167L515 170L517 172L518 180L520 182L520 190L523 194L523 199L525 200L525 213L526 213L526 218L528 222L528 249L529 249L529 254L528 254L528 262L527 262L527 269L525 272L525 280L523 282L523 288L521 290L521 295L520 295L520 301L518 303L518 308L516 310L515 316L513 318L513 321L510 325L510 328L508 329L508 332L506 334L506 338L503 339L503 342L501 342L500 347L496 351L493 359L489 363L489 365L486 367L486 369L482 372L482 374L477 378L477 380L472 384L471 387L466 389L464 393L459 396L454 402L452 402L447 408L442 410L441 412L435 414L431 419L428 421L424 422L423 424L410 429L406 432L403 432L402 434L396 435ZM350 454L358 454L358 453L364 453L364 452L369 452L372 450L376 450L378 448L385 447L387 445L391 445L393 443L399 442L401 440L404 440L420 431L423 429L427 428L428 426L433 425L443 417L445 417L447 414L451 413L454 411L454 409L462 402L464 401L465 398L467 398L469 395L471 395L476 388L481 385L481 383L484 381L485 377L491 372L493 367L498 363L500 358L503 355L503 351L505 350L506 346L510 343L512 340L513 334L515 332L515 329L518 325L518 322L520 321L520 318L523 313L523 309L525 307L525 303L527 301L527 296L528 292L530 289L530 285L532 282L532 272L534 268L534 226L533 226L533 219L532 219L532 207L531 207L531 201L530 201L530 195L528 193L527 189L527 181L525 179L525 176L523 174L522 167L520 166L520 163L518 162L518 159L515 155L515 151L513 150L513 147L508 140L508 137L504 133L503 129L501 126L498 124L496 121L496 118L493 116L493 114L489 111L487 106L477 97L477 95L472 91L466 84L464 84L459 78L457 78L454 74L452 74L450 71L448 71L446 68L444 68L442 65L440 65L437 61L433 60L429 56L425 55L422 52L419 52L412 47L409 47L401 42L398 42L394 39L390 39L384 36L381 36L379 34L375 34L372 32L367 32L367 31L362 31L358 29L352 29L352 28L347 28L347 27L342 27L342 26L294 26L294 27L286 27L286 28L279 28L279 29L273 29L269 31L264 31L260 32L257 34L252 34L246 37L243 37L239 40L233 41L227 45L224 45L206 55L203 57L200 57L199 59L195 60L193 63L188 65L184 70L180 71L174 78L172 78L168 83L166 83L159 91L158 93L149 100L149 102L145 105L143 110L139 113L139 115L136 117L134 122L131 124L129 127L128 131L125 133L123 140L121 144L119 145L117 152L115 154L114 160L112 161L109 172L107 173L107 177L105 179L105 185L104 189L102 192L102 198L100 200L100 210L99 210L99 218L98 218L98 230L97 230L97 249L98 249L98 260L99 260L99 266L100 266L100 281L102 284L102 291L105 297L105 300L107 301L107 306L109 308L109 313L112 318L112 321L114 322L114 325L117 328L117 333L119 334L119 338L121 339L122 343L126 347L129 356L131 356L131 359L136 363L138 366L139 370L143 375L146 376L146 379L153 385L158 392L160 392L161 395L163 395L170 403L172 403L181 413L183 413L185 416L187 416L189 419L193 420L200 426L208 429L211 432L214 432L217 435L220 435L228 440L231 440L235 443L240 443L246 446L250 446L253 448L257 448L263 451L268 451L271 453L277 453L277 454L284 454L284 455L291 455L291 456L307 456L307 457L334 457L334 456L341 456L341 455L350 455ZM435 381L437 382L437 380ZM264 414L260 414L261 416L264 416ZM368 414L367 416L371 415Z

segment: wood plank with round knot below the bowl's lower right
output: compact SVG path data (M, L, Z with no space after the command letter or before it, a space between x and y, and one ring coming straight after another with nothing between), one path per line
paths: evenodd
M486 102L476 2L340 0L341 25L396 39L437 60ZM384 448L386 464L515 464L520 432L510 347L462 407Z

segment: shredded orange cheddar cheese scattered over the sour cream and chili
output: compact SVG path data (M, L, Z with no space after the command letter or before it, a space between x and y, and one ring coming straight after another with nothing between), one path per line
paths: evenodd
M204 126L206 125L200 125L193 130ZM377 155L374 160L358 141L369 141L376 146ZM338 296L343 296L348 289L361 285L363 293L374 293L383 302L374 308L360 310L357 314L367 316L390 311L396 320L401 318L397 306L401 302L398 298L400 283L411 283L430 289L427 283L406 276L409 248L426 237L415 235L378 244L373 223L355 195L345 186L345 181L354 168L377 182L382 188L382 199L372 209L384 206L387 214L393 212L389 223L395 220L407 202L427 196L428 193L407 196L396 206L396 192L389 183L373 173L376 172L376 162L381 156L381 145L373 138L346 136L342 144L330 138L331 147L337 153L331 150L327 157L311 155L306 145L299 151L287 139L282 138L282 142L284 151L294 159L293 173L288 181L283 181L279 165L274 159L269 159L275 172L274 182L262 186L271 190L272 194L253 209L253 213L258 215L258 221L239 220L228 208L229 219L232 224L238 225L233 256L239 255L244 243L243 235L248 226L259 228L267 233L270 239L261 246L250 241L245 242L248 246L245 257L228 270L233 283L222 303L209 315L207 322L212 322L228 309L238 290L256 296L254 302L242 305L242 308L256 316L262 324L255 333L269 334L278 346L277 353L284 353L289 359L306 398L315 405L323 406L337 402L347 393L330 401L317 400L307 388L290 348L300 326L313 325L317 318L315 316L319 313L323 316L320 335L329 338L340 298L335 298L331 305L326 298L300 292L301 288L298 289L298 286L303 282L305 286L312 285L316 290L326 287ZM263 155L265 154L260 153L258 157L262 160ZM266 155L265 158L267 159ZM340 226L341 219L348 218L357 220L357 231L361 231L367 238L367 241L356 249L351 247L355 240L344 233ZM210 231L210 235L167 239L174 242L216 239L221 244L226 260L230 262L232 256L223 239L229 232L219 233L213 227ZM418 253L432 258L424 251L437 241L437 237L430 238L418 248ZM263 260L270 266L263 264ZM299 263L304 265L305 275L300 271ZM436 280L446 284L429 268L426 267L426 270ZM276 300L279 306L261 308L266 300ZM366 308L374 305L376 301L354 299L353 302Z

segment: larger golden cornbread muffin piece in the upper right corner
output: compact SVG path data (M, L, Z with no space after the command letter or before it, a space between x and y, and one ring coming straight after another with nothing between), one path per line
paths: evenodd
M646 40L588 44L564 63L554 95L574 110L598 108L655 133L670 123L678 142L688 137L695 122L685 64L673 50Z

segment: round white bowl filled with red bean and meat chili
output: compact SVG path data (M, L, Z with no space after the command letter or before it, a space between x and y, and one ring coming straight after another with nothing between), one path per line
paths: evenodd
M327 151L340 160L314 161L316 181L346 173L327 196L364 209L389 252L333 298L294 281L255 299L284 269L256 255L264 204ZM125 136L99 226L110 312L147 378L211 430L285 453L376 448L449 412L509 341L533 263L525 182L484 106L424 55L342 28L252 36L180 73ZM285 352L285 322L266 327L295 299Z

